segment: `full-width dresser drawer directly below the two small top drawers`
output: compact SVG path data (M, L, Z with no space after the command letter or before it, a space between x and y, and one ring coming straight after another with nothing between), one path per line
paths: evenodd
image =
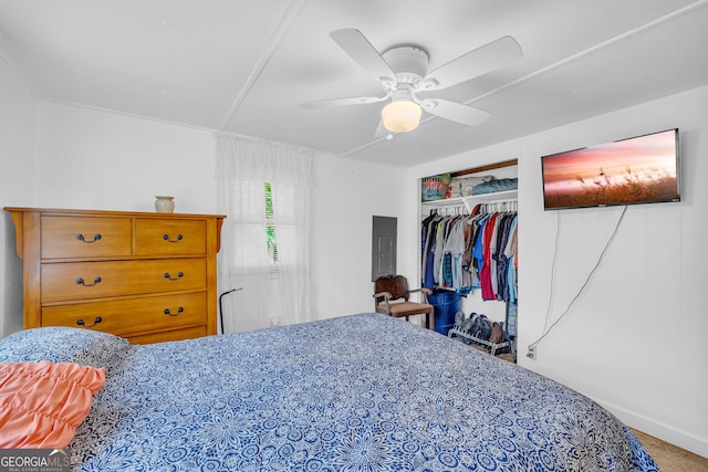
M205 259L42 264L42 303L204 290Z

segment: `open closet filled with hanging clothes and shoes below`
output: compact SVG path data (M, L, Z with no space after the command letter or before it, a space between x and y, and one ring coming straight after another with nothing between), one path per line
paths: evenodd
M459 312L440 313L448 318L448 334L479 337L479 332L469 333L470 321L482 315L489 331L502 328L508 344L485 344L490 335L485 329L481 347L494 354L510 350L516 359L518 160L423 178L420 197L420 284L461 297Z

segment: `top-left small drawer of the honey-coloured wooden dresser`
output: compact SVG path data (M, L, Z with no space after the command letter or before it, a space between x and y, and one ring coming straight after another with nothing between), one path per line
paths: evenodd
M131 255L131 219L42 217L42 259Z

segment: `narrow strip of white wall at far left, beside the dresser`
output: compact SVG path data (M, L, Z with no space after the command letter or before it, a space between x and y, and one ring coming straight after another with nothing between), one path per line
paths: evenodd
M32 199L34 97L0 56L0 207ZM22 328L22 265L10 214L0 219L0 336Z

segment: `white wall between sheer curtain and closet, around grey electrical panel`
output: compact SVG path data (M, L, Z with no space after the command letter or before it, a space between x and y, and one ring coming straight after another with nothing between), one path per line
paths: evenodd
M372 217L398 219L400 268L406 254L405 171L317 155L314 172L311 271L315 316L372 312Z

